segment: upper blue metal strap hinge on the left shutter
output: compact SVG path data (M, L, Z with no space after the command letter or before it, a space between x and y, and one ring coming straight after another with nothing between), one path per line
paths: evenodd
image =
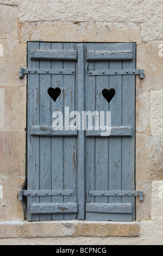
M19 77L24 74L39 74L39 75L75 75L75 69L23 69L19 70Z

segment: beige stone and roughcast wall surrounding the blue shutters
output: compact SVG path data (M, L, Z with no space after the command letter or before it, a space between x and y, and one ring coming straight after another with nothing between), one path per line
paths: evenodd
M0 0L0 15L0 244L43 243L30 232L24 237L15 227L11 231L13 222L26 223L17 197L26 182L27 80L18 70L27 66L27 41L35 40L136 42L137 69L145 69L145 78L136 78L136 190L145 193L144 202L136 202L140 236L101 238L88 232L82 238L80 232L73 241L72 234L44 241L163 244L162 1Z

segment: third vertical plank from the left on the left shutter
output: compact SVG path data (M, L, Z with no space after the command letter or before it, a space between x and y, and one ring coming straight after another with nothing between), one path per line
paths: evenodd
M52 43L52 50L63 50L62 43ZM52 69L63 69L62 61L52 61ZM52 101L52 114L54 111L64 113L63 96L64 90L63 75L52 75L52 88L60 88L61 95L56 102ZM52 120L53 122L53 120ZM64 139L63 137L52 137L52 190L64 190ZM52 203L64 203L64 197L52 197ZM53 214L52 220L64 220L64 214Z

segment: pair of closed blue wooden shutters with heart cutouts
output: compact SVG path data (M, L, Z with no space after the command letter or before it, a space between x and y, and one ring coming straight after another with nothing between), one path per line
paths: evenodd
M28 221L135 220L135 51L28 42ZM111 135L54 131L53 112L64 117L65 107L110 111Z

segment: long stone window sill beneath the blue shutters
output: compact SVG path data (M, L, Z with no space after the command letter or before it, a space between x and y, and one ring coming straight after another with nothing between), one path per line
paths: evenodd
M95 221L0 222L0 238L61 236L136 237L140 236L140 223Z

